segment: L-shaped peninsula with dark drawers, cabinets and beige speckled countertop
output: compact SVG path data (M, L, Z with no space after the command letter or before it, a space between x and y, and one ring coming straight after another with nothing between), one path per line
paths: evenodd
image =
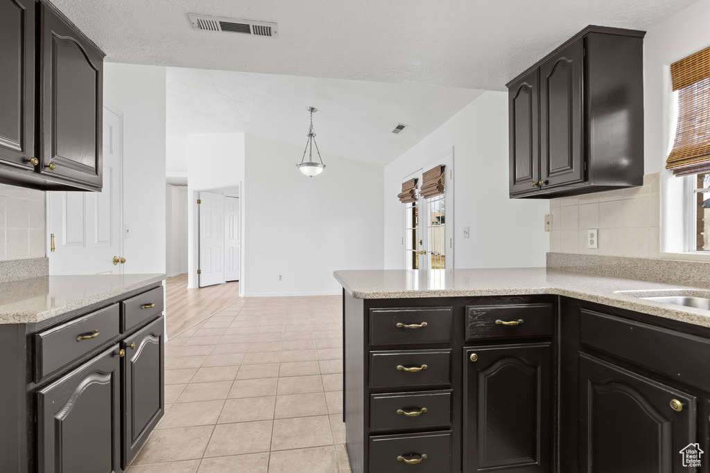
M710 451L710 311L640 299L709 297L701 284L550 267L334 276L353 472L679 472L686 445Z

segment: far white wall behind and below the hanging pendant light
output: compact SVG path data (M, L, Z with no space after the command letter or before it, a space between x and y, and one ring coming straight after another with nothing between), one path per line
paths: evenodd
M302 155L246 135L246 296L341 294L334 271L382 269L382 168L323 155L326 169L309 178L295 166Z

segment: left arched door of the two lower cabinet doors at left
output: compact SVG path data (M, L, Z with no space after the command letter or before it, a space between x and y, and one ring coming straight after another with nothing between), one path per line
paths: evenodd
M38 472L121 472L119 347L38 391Z

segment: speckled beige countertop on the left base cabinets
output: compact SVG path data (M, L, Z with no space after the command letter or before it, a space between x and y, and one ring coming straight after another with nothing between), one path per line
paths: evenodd
M0 284L0 324L36 323L163 281L165 274L45 276Z

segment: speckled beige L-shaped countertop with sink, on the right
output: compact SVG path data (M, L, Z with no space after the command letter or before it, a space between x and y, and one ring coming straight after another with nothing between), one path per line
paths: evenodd
M707 287L550 268L336 271L334 276L356 299L555 294L710 327L710 311L638 299L665 295L710 298Z

